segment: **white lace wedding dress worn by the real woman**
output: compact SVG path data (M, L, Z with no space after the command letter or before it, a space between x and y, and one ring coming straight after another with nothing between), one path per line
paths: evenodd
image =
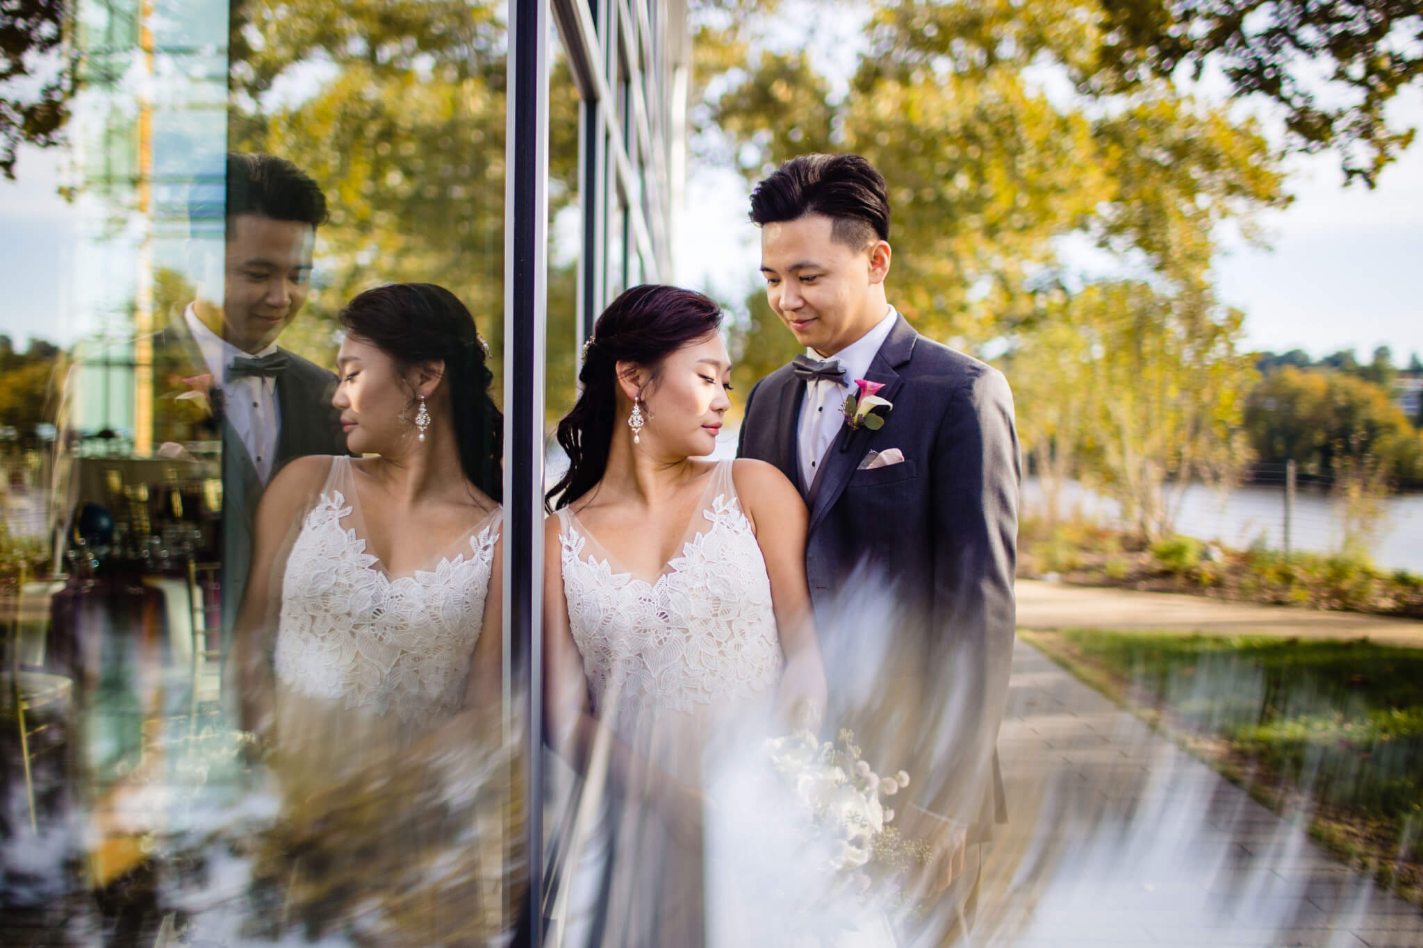
M561 566L593 711L619 742L690 787L734 752L739 725L768 718L784 658L766 561L731 480L716 466L682 556L655 577L623 570L564 507ZM699 839L635 800L610 799L571 860L566 945L706 942Z

